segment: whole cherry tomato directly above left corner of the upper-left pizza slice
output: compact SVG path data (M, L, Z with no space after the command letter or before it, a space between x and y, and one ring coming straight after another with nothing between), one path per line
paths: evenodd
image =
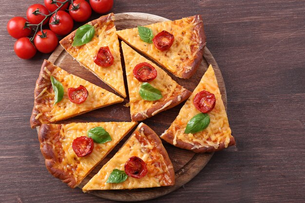
M55 34L67 35L73 28L73 19L68 13L64 11L57 11L56 19L55 14L51 16L49 26L50 29L55 32Z

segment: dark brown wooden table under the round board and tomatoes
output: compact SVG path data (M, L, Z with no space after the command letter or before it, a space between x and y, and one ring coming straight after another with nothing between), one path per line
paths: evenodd
M114 1L114 13L202 15L237 139L236 148L216 152L191 182L149 202L305 202L305 1ZM44 166L29 119L39 68L49 55L19 59L6 32L7 21L25 16L33 3L43 1L0 2L0 202L111 202L70 189Z

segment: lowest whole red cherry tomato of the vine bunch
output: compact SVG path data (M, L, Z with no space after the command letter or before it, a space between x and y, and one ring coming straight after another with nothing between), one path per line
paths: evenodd
M30 59L36 54L35 46L27 37L21 37L15 42L14 51L22 59Z

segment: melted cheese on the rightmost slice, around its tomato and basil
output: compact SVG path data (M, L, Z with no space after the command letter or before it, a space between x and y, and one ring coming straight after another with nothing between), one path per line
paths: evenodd
M215 107L209 113L210 124L206 129L200 132L194 134L185 134L185 128L191 118L194 115L201 113L195 108L193 99L198 92L203 90L213 93L216 98ZM228 147L230 138L232 137L231 129L229 127L228 116L224 103L221 99L221 94L218 88L214 70L211 65L202 77L194 92L191 94L190 98L181 108L171 127L161 135L161 138L167 132L172 132L174 135L173 145L177 144L177 140L181 140L185 143L193 145L193 149L201 147L214 147L217 149L219 144L223 142L225 143L225 148Z

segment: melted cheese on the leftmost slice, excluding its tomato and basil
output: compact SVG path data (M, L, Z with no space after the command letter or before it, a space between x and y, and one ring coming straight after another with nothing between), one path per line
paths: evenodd
M36 115L36 119L42 124L67 119L80 113L123 101L122 98L114 93L108 92L76 75L69 74L59 67L56 67L52 73L45 67L44 71L40 74L45 78L46 83L43 85L47 86L35 98L35 101L44 101L43 104L35 102L35 108L39 112ZM55 94L50 80L51 75L61 82L64 89L62 100L55 105ZM87 89L88 97L84 103L75 104L69 100L68 88L77 88L79 85ZM38 88L40 87L37 84L36 89Z

